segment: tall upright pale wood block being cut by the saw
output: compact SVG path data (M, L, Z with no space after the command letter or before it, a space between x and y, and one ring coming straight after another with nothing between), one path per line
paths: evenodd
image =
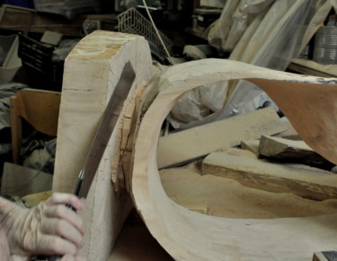
M96 30L82 39L67 57L53 191L73 192L102 113L128 61L137 76L125 105L136 85L152 75L146 39ZM81 255L87 260L107 260L131 207L129 194L118 197L111 185L111 161L119 150L117 138L114 132L85 201L86 233Z

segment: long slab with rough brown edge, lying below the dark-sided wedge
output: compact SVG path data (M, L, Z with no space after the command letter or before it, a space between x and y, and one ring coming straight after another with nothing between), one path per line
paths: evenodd
M234 178L244 186L270 192L290 192L315 200L337 196L337 176L329 171L248 159L240 155L241 150L236 151L236 155L226 152L209 154L202 161L202 172Z

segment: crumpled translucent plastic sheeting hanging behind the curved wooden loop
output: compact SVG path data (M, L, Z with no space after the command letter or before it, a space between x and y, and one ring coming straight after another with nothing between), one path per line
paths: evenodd
M220 18L208 29L208 42L219 50L230 51L229 59L284 71L336 6L337 0L228 0ZM208 100L208 104L214 101L219 106L218 100L224 100L221 108L214 106L208 116L196 115L194 108L193 117L186 121L191 114L187 105L191 102L190 96L185 94L178 105L184 109L183 120L182 110L173 109L177 122L182 120L180 124L175 122L175 127L187 128L243 114L262 107L262 103L269 100L252 83L236 81L221 83L221 87L217 83L217 91L203 93L194 100L194 105L203 108L202 100ZM269 101L277 109L272 100Z

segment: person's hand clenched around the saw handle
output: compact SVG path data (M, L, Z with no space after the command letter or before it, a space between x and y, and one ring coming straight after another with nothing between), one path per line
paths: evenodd
M84 203L76 196L55 193L30 210L17 206L8 213L4 228L13 260L53 254L64 255L61 260L65 261L83 260L78 251L82 247L84 222L66 204L76 210L84 209Z

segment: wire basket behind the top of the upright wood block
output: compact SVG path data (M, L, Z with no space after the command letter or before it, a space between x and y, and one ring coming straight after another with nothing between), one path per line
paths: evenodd
M127 11L120 13L117 18L118 30L120 32L144 36L150 42L150 44L155 44L163 57L167 57L164 47L155 33L152 23L148 21L143 14L139 13L135 8L129 8ZM168 39L161 31L159 31L159 34L171 56L173 53L172 41Z

